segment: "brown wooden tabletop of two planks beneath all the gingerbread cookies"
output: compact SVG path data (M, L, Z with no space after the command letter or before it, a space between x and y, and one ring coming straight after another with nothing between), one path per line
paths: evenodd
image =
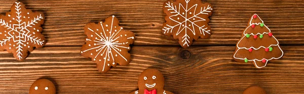
M35 49L24 62L0 52L0 93L28 93L39 78L48 78L57 93L128 93L137 89L138 75L146 68L160 70L165 89L176 94L242 93L258 85L268 93L304 93L303 0L208 0L214 6L209 23L212 35L183 49L178 40L162 34L166 0L32 0L28 9L46 15L44 48ZM0 1L0 13L15 2ZM206 2L206 1L203 1ZM284 57L257 69L232 56L236 42L253 13L279 39ZM127 66L102 74L96 63L80 55L84 26L115 15L136 35Z

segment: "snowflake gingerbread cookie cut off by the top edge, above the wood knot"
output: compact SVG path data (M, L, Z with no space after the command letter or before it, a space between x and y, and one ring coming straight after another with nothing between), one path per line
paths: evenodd
M202 3L201 0L168 0L164 3L163 10L167 14L163 24L164 34L179 39L183 48L189 47L193 39L210 37L208 17L213 11L211 4Z

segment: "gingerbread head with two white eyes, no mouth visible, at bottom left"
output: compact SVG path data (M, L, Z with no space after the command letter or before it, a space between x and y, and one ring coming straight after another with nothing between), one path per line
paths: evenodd
M56 88L48 79L36 80L29 88L29 94L55 94Z

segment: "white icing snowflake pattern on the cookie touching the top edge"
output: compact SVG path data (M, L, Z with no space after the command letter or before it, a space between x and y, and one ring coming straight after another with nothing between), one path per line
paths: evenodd
M194 35L196 35L195 29L194 29L194 26L196 26L196 27L200 28L199 30L200 30L200 33L201 33L201 34L204 34L204 35L205 35L205 32L208 33L208 34L210 34L210 30L206 30L208 27L205 27L205 25L203 25L203 26L198 26L198 25L195 24L195 23L196 23L196 22L206 21L206 19L201 18L201 17L198 17L198 15L200 15L200 14L208 15L208 13L211 13L211 11L213 10L213 9L208 5L208 7L207 7L207 8L204 7L204 9L201 7L200 13L196 14L196 9L197 9L197 7L198 7L198 4L192 6L192 7L190 7L190 8L188 9L188 3L189 3L190 1L191 1L191 0L185 0L185 2L186 2L186 8L185 8L184 6L182 6L181 4L179 4L178 10L177 10L176 6L173 6L173 3L171 3L171 5L170 5L170 2L166 3L167 6L165 6L165 8L170 8L170 9L168 9L168 11L174 11L174 12L171 12L171 14L175 14L175 15L172 15L172 16L169 17L170 20L172 20L172 21L174 21L174 22L176 22L176 23L178 23L178 24L175 25L175 26L171 26L171 25L168 25L168 24L167 24L167 25L166 25L167 27L164 27L164 28L163 28L164 33L169 33L169 32L172 33L172 30L173 30L175 27L178 27L179 29L178 29L176 35L178 35L179 33L181 33L181 32L184 30L184 31L185 31L185 35L182 37L182 39L183 39L182 42L183 42L183 45L187 45L187 46L189 46L189 43L190 43L190 41L189 41L190 37L189 37L189 35L187 34L187 29L191 30L191 32L192 32ZM180 9L181 9L181 8L185 11L185 13L180 13ZM195 8L194 13L188 12L188 11L191 10L192 8ZM188 18L188 17L187 17L187 14L194 14L194 16ZM185 15L185 16L183 16L183 15ZM172 17L176 17L176 16L181 16L181 17L184 18L185 20L182 21L182 22L180 22L180 21L178 21L180 18L177 18L177 20L172 19ZM194 21L194 22L191 21L191 20L195 20L195 19L200 19L200 20ZM190 22L191 24L187 24L187 22ZM193 27L193 29L189 28L189 27L191 27L191 26ZM183 28L181 29L181 27L183 27Z

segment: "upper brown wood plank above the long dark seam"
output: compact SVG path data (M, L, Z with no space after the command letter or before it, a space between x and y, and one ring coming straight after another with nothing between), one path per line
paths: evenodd
M134 45L179 45L178 40L162 34L166 0L37 0L21 1L28 9L46 15L43 34L47 46L85 43L84 26L116 15L121 26L136 34ZM0 1L0 13L10 10L15 1ZM234 45L239 40L251 14L257 13L283 45L304 44L304 3L302 0L209 0L214 6L210 39L194 45Z

